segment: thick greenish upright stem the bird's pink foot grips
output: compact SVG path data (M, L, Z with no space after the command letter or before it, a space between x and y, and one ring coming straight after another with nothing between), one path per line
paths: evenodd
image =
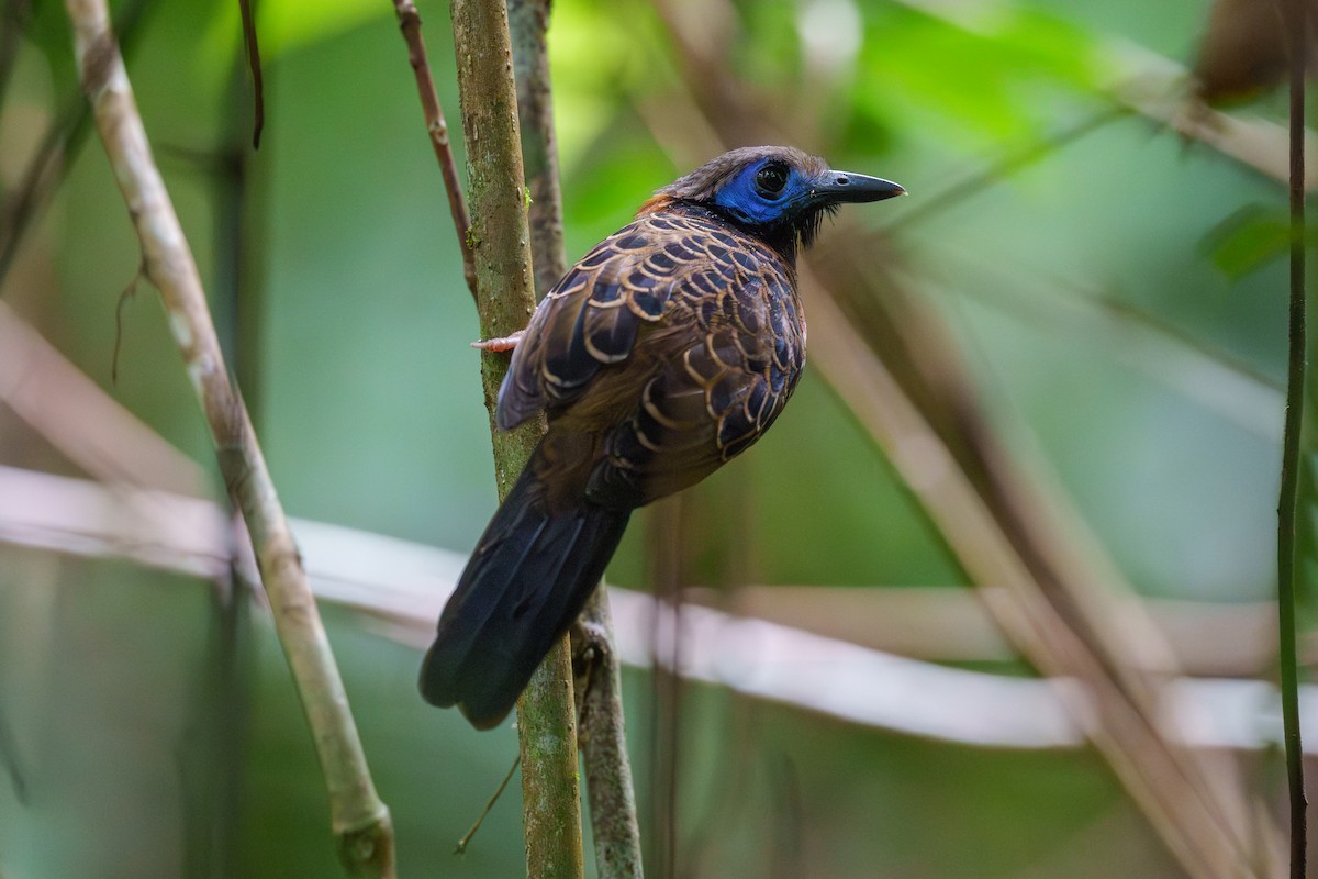
M526 324L535 297L507 11L502 0L456 0L451 11L463 132L473 145L467 150L472 215L468 239L476 252L481 337L510 336ZM543 416L513 431L496 430L497 393L506 370L506 356L488 351L481 354L501 497L544 431ZM531 676L517 714L527 872L581 876L576 712L565 637Z

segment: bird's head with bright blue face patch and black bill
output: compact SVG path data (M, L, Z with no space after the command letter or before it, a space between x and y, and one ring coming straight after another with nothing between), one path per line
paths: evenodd
M844 202L879 202L904 194L891 181L836 171L824 159L791 146L746 146L663 187L642 213L691 202L791 253L797 240L809 246L824 215Z

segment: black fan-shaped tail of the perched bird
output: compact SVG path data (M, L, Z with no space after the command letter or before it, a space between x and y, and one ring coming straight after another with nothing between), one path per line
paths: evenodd
M477 729L497 726L568 630L618 548L630 511L550 514L522 470L467 563L420 667L420 692Z

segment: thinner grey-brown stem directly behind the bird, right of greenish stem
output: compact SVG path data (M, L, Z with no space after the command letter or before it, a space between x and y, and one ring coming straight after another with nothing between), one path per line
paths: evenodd
M567 271L563 248L563 192L554 136L546 30L548 0L509 0L522 157L531 192L531 262L543 297ZM602 879L639 879L641 826L627 759L622 714L622 675L605 589L596 589L572 633L580 712L580 746L590 797L596 868ZM580 668L584 666L584 668Z

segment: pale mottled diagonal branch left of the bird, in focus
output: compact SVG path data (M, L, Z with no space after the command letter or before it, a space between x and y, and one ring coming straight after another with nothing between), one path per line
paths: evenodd
M216 448L243 513L275 629L311 726L339 859L352 876L394 875L389 809L376 795L343 681L330 652L287 519L237 390L229 382L206 293L165 182L152 158L104 0L67 0L79 78L159 290Z

